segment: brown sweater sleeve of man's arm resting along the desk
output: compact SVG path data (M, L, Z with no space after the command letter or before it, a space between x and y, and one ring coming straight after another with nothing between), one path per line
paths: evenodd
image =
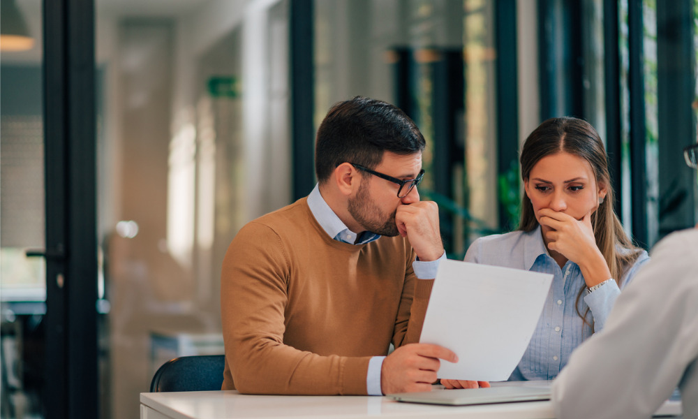
M322 356L283 344L290 269L287 249L263 224L248 223L230 244L221 274L223 389L365 395L371 357Z

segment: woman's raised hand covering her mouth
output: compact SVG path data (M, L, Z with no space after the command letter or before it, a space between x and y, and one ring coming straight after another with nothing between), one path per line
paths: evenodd
M596 246L591 211L584 214L581 220L549 208L541 209L539 214L548 249L577 263L586 286L592 287L611 278L608 264Z

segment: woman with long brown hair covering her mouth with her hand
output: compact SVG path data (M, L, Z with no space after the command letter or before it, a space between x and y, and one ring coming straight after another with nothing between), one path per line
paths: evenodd
M621 288L648 256L614 213L604 145L587 122L563 117L540 124L523 145L521 178L519 230L481 237L465 260L554 274L530 344L509 378L550 380L574 348L604 327Z

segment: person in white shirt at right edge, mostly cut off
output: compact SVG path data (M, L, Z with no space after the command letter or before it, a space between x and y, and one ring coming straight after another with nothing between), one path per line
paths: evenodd
M698 168L698 144L686 163ZM659 242L621 293L606 327L553 383L558 418L650 418L678 385L698 419L698 226Z

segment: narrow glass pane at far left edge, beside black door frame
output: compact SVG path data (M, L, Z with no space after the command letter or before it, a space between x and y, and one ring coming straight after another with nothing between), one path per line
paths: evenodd
M2 4L0 36L0 416L42 417L46 263L43 28L37 1Z

